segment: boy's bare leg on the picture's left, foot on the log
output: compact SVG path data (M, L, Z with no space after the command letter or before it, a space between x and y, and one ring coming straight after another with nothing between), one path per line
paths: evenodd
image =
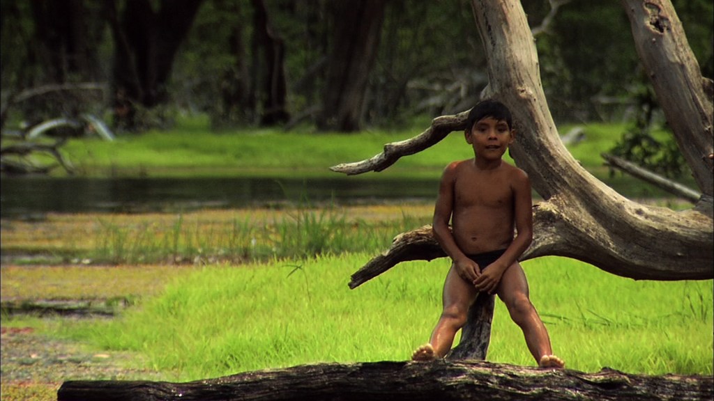
M452 265L444 281L441 317L431 333L431 340L414 351L413 360L434 360L445 357L451 351L456 332L466 324L468 308L477 294L473 284L463 280Z

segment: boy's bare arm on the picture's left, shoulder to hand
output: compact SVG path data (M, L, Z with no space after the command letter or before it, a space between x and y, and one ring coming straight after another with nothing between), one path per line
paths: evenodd
M453 234L448 228L451 213L453 213L453 188L456 178L456 166L458 166L458 162L449 164L441 176L439 193L434 207L432 230L443 251L453 260L453 265L458 275L461 275L461 278L469 283L473 283L473 280L476 280L481 275L481 269L476 262L469 259L458 248L456 241L453 239Z

